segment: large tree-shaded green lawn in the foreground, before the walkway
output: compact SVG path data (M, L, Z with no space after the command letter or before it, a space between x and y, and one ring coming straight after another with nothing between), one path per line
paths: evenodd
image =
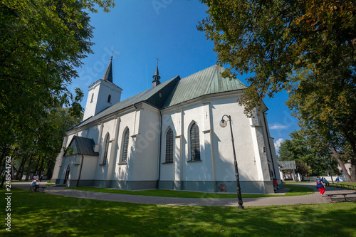
M11 191L11 232L3 224L0 236L356 236L356 202L238 210Z

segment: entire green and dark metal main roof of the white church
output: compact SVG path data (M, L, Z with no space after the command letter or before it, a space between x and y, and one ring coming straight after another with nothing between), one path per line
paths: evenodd
M80 124L71 128L82 127L90 122L95 122L102 117L110 115L126 107L135 105L137 102L147 102L148 104L163 109L172 105L199 98L203 95L224 93L227 91L242 90L246 85L240 80L223 78L221 73L225 68L219 65L212 65L210 68L199 71L180 80L179 76L161 83L154 88L143 91L126 100L117 102L93 117L89 117ZM157 71L158 73L158 71ZM68 130L69 131L69 130Z

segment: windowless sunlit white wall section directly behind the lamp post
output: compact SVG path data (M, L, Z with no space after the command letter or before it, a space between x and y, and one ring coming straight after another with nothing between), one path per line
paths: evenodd
M248 117L244 115L244 107L237 102L236 96L221 98L211 102L213 107L213 145L216 162L216 180L234 181L234 154L231 142L230 125L225 116L224 120L228 122L226 127L220 127L219 122L224 115L231 116L231 124L234 135L234 144L236 149L236 160L239 167L241 181L256 181L257 167L256 157L254 156L253 137L251 135L251 125Z

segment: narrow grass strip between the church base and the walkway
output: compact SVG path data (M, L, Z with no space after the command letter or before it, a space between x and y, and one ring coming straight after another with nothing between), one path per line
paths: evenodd
M276 195L276 194L242 194L243 198L256 198L256 197L266 197L266 196L298 196L313 194L314 190L303 187L284 184L284 187L290 190L286 194ZM201 193L194 191L173 191L173 190L162 190L162 189L152 189L143 191L129 191L120 189L103 189L95 187L78 187L78 188L68 188L76 189L82 191L97 191L109 194L130 194L130 195L141 195L141 196L166 196L166 197L179 197L179 198L196 198L196 199L234 199L237 194L222 194L222 193Z

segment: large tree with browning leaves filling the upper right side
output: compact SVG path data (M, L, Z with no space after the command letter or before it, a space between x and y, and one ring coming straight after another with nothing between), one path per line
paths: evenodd
M350 147L356 171L356 2L201 2L209 9L198 29L214 42L219 63L229 65L225 75L251 73L240 100L246 113L287 90L296 116Z

